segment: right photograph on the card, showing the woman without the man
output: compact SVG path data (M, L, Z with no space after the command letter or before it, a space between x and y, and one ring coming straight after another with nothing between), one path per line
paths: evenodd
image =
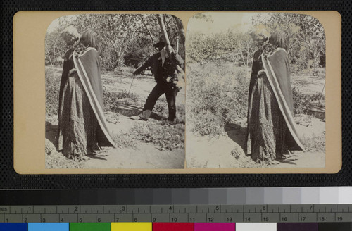
M186 37L187 168L325 168L319 20L200 13Z

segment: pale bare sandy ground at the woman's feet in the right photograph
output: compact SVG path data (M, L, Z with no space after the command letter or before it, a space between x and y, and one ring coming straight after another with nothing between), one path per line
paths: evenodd
M313 129L312 129L313 127ZM315 137L325 131L325 122L311 118L310 125L297 125L302 137ZM244 136L246 128L239 125L225 127L226 135L199 137L186 133L187 168L261 168L251 157L245 156ZM301 152L277 162L270 168L324 168L325 153L320 151Z

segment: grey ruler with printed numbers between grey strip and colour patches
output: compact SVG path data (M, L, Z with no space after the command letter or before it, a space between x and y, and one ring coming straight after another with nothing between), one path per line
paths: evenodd
M0 206L0 223L351 221L352 204Z

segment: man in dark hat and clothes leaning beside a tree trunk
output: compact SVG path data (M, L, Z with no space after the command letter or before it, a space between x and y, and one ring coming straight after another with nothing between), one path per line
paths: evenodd
M151 90L146 104L142 113L139 116L132 116L134 120L148 120L151 116L151 111L158 101L159 97L165 93L166 101L168 101L170 122L175 122L176 119L176 96L177 92L180 91L180 82L183 81L184 73L180 65L184 64L182 58L175 54L172 49L171 57L168 56L168 52L165 49L166 43L163 39L160 39L158 43L154 44L154 47L158 49L156 54L153 54L144 65L137 68L133 75L137 75L151 67L153 70L154 78L156 80L156 86ZM171 45L172 46L172 45ZM182 77L180 77L182 75ZM180 80L182 78L182 80Z

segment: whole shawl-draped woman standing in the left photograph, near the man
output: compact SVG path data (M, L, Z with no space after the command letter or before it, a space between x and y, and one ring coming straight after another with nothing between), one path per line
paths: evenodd
M66 30L64 34L73 33ZM99 35L87 30L80 45L70 49L63 64L56 140L64 156L81 158L94 154L100 146L114 144L103 114Z

